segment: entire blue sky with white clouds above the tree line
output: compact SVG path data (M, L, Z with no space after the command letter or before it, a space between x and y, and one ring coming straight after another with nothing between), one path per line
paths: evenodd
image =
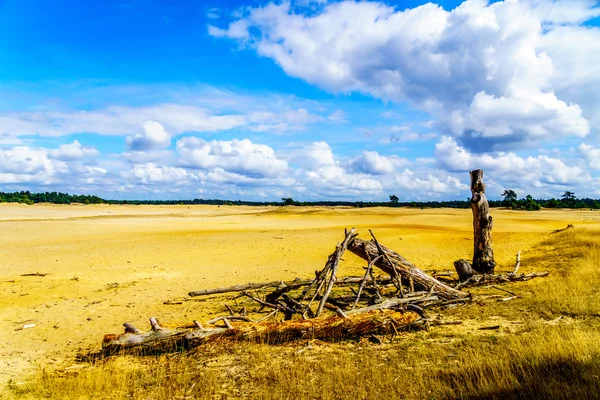
M0 191L600 197L595 0L0 0Z

